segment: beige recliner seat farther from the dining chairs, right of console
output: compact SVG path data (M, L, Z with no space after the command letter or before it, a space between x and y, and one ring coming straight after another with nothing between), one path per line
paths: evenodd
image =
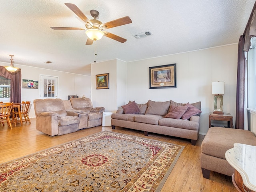
M105 111L104 107L94 108L90 98L70 98L70 103L73 111L66 109L67 113L74 115L72 112L76 112L77 116L81 118L80 121L82 122L80 122L80 124L83 124L83 126L80 126L78 129L96 127L102 124L102 113ZM84 113L86 117L84 117Z

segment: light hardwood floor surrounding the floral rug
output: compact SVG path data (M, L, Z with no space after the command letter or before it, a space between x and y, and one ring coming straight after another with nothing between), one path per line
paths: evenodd
M185 146L180 158L176 162L170 176L166 180L161 192L236 192L231 177L211 172L210 179L202 176L200 167L200 146L204 136L200 135L196 146L192 146L190 140L174 138L150 133L144 136L143 132L127 128L98 126L79 130L62 136L48 136L36 130L36 119L31 118L31 124L17 124L12 129L5 124L0 125L0 164L32 154L59 144L76 140L104 130L122 134L139 136L162 142L169 142Z

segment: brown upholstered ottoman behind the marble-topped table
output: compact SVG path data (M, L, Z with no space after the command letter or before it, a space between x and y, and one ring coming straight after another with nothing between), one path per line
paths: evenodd
M227 162L225 153L234 147L234 143L256 146L256 136L248 130L211 127L201 144L201 168L204 178L210 178L210 172L232 176L234 168Z

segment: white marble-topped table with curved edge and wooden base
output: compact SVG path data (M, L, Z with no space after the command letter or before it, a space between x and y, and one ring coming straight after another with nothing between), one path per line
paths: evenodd
M235 143L226 151L228 163L234 167L232 182L239 192L256 192L256 146Z

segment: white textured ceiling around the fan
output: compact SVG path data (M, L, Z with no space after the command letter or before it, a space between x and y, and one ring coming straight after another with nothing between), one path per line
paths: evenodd
M84 22L64 3L75 4L89 19L98 10L105 23L129 16L131 24L107 31L123 38L96 42L96 62L130 62L179 52L237 43L254 0L0 0L0 62L90 75L95 42L85 45ZM150 31L151 36L133 35ZM52 61L46 64L46 61Z

